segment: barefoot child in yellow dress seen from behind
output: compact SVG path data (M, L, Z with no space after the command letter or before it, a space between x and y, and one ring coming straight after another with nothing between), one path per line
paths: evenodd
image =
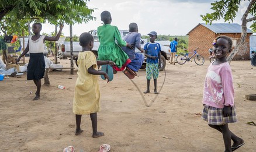
M100 107L100 93L98 76L103 75L109 82L106 72L99 71L98 65L114 66L112 61L96 61L94 53L91 51L94 47L94 37L89 33L82 33L79 37L79 43L82 51L78 54L78 78L75 83L75 94L73 101L73 112L77 128L75 135L79 135L84 130L80 128L81 118L83 114L90 114L92 121L92 137L104 136L104 133L97 131L97 112Z

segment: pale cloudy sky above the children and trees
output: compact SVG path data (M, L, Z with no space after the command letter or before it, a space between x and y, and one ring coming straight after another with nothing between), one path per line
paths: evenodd
M210 5L212 0L91 0L87 2L88 8L97 8L92 13L96 20L88 23L74 24L73 35L80 36L89 30L96 30L102 25L101 12L108 10L112 16L112 25L119 30L128 30L129 24L135 22L139 26L139 33L147 35L156 31L161 35L185 36L199 23L205 23L200 15L212 13ZM241 17L245 12L248 1L241 1L236 19L233 23L241 24ZM224 23L224 20L213 23ZM249 29L251 23L247 23ZM41 33L51 33L55 26L43 24ZM64 24L64 36L70 36L70 26Z

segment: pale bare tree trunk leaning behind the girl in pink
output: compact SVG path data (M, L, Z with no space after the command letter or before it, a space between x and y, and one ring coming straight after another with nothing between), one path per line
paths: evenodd
M255 5L254 4L255 2L256 2L256 0L252 0L249 3L248 8L244 12L244 15L243 15L243 17L241 19L242 20L242 24L241 24L241 26L242 26L241 38L240 38L240 41L238 41L238 43L237 43L236 47L234 48L234 50L230 53L229 56L227 56L227 62L229 62L229 64L231 63L232 59L234 58L234 56L237 54L238 51L242 51L242 50L246 51L247 50L247 43L245 41L246 36L247 36L247 26L246 26L246 24L247 24L248 21L249 22L251 21L251 20L247 20L247 16L248 16L248 13L251 10L251 7Z

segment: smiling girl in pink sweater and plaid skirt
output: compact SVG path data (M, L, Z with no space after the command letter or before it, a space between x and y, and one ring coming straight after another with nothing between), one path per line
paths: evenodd
M222 133L225 151L234 151L243 146L244 140L234 135L228 126L228 123L237 122L233 78L226 59L226 55L231 52L232 40L227 36L219 36L213 45L216 61L210 64L205 78L202 119Z

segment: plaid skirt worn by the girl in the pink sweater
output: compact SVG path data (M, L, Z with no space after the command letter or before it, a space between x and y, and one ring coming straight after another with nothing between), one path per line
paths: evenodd
M237 122L236 107L230 108L230 116L223 115L223 108L215 108L205 105L203 108L202 119L207 121L209 125L224 125L226 123Z

